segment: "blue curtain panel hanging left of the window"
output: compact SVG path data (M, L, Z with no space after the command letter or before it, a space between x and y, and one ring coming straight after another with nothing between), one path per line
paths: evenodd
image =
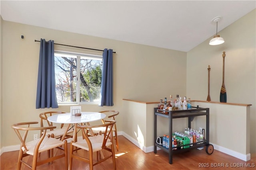
M36 109L58 108L55 91L54 41L41 38L36 91Z

